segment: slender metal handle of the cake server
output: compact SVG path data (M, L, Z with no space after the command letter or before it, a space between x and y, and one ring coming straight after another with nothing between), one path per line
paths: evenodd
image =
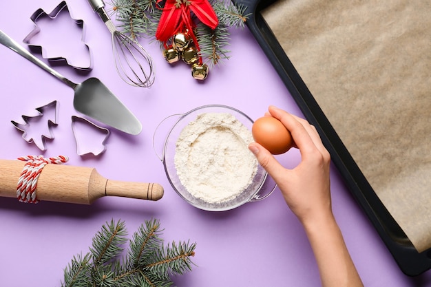
M14 41L14 39L10 38L5 32L0 30L0 43L6 47L8 47L10 50L17 52L21 56L23 56L25 59L28 59L28 61L34 63L35 65L38 65L46 72L52 74L52 76L55 76L60 81L68 85L69 87L72 87L74 89L76 87L76 84L69 81L67 78L62 76L59 72L56 72L56 70L52 69L50 66L43 63L43 61L36 58L36 56L33 56L28 50L25 50L19 43Z

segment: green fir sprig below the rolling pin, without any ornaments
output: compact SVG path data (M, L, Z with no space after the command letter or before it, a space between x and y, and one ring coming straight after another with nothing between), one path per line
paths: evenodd
M90 252L76 255L64 269L62 287L167 287L171 275L191 271L196 243L164 245L158 220L145 221L128 241L125 222L106 222L94 235Z

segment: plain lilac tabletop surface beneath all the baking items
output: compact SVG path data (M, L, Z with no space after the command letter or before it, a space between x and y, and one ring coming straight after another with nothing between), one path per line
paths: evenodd
M19 43L34 28L30 20L34 11L42 8L49 13L59 4L59 0L3 2L0 29ZM158 123L171 114L185 113L200 105L230 105L251 118L262 116L268 105L277 105L302 116L249 30L232 31L231 59L211 70L204 83L191 78L187 65L165 63L156 43L142 41L154 59L156 83L151 89L135 88L118 78L110 34L87 1L68 4L72 17L85 22L85 43L92 50L94 70L83 74L66 65L56 66L56 70L75 82L89 76L100 78L138 116L143 132L127 136L112 130L105 153L78 156L70 118L81 115L72 107L72 89L1 46L0 158L63 154L70 157L68 164L96 167L105 178L158 182L165 187L165 196L158 202L102 198L91 206L22 204L14 198L1 198L1 286L60 286L63 268L74 255L87 252L94 233L112 218L125 220L129 233L134 233L144 220L158 218L165 228L166 242L197 242L193 257L197 267L176 277L177 286L319 286L317 266L304 231L278 189L261 202L244 204L233 211L200 211L176 195L156 155L161 153L169 125L160 127L156 151L152 145ZM72 38L74 28L61 29ZM41 42L44 47L45 41L48 40ZM65 41L53 43L59 42ZM76 61L83 61L85 46L79 44L72 47L76 41L67 43L68 52L74 54ZM42 153L21 138L21 132L10 120L21 120L22 114L32 114L34 108L52 100L59 101L59 125L52 128L55 138L46 142L48 150ZM294 167L299 154L290 151L279 159L286 167ZM401 273L337 169L333 167L331 171L335 217L365 286L431 286L429 272L417 278Z

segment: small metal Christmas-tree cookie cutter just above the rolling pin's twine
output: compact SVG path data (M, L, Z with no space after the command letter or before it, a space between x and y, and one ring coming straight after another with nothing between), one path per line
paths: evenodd
M40 142L39 142L39 140L34 140L33 137L28 138L28 130L31 129L30 128L30 126L31 126L30 122L32 122L32 119L42 117L44 114L46 114L45 111L47 111L48 109L54 109L54 120L52 120L51 118L49 118L47 120L48 134L41 134ZM12 123L12 125L14 125L14 127L19 129L19 131L23 132L22 138L26 142L28 142L29 144L34 142L34 145L36 145L36 147L38 147L41 151L45 151L46 150L45 140L47 140L47 139L54 140L54 134L52 134L51 129L52 129L52 126L57 125L57 117L58 117L57 101L54 100L51 103L48 103L48 104L43 105L41 107L36 107L36 111L39 112L39 114L37 114L36 116L25 116L25 115L21 116L21 118L23 118L25 124L17 123L14 120L11 120L10 122Z

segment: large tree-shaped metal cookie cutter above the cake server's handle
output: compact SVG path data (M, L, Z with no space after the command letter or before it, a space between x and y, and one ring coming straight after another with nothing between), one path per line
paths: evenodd
M58 57L52 57L52 58L45 58L43 56L43 47L41 45L33 45L32 43L30 43L32 37L36 34L38 34L41 31L41 28L39 28L39 26L37 25L37 21L39 19L41 19L42 17L49 17L51 20L55 19L57 17L57 15L60 14L60 12L62 12L63 10L67 10L70 18L76 23L76 25L78 25L79 28L81 28L82 30L82 37L81 37L81 41L85 44L85 47L87 47L88 53L89 53L89 61L90 64L87 67L80 67L78 65L72 65L71 63L69 63L69 61L63 57L63 56L58 56ZM34 29L32 30L32 32L30 32L30 34L28 34L27 36L25 36L23 42L28 44L28 46L30 47L30 49L36 50L38 52L40 52L42 54L43 59L48 59L48 62L50 63L55 63L55 62L63 62L66 63L67 65L69 65L70 67L73 67L74 69L77 70L83 70L83 71L90 71L93 69L93 57L92 57L92 51L90 50L90 46L87 45L87 43L85 43L85 25L84 25L84 21L81 19L74 19L72 17L72 15L70 14L70 10L69 8L67 8L67 3L66 1L61 1L61 3L59 3L58 6L56 6L56 8L54 8L54 10L52 10L52 12L50 12L49 14L47 12L45 12L43 9L39 8L38 10L36 10L32 16L30 17L30 19L33 21L34 23Z

